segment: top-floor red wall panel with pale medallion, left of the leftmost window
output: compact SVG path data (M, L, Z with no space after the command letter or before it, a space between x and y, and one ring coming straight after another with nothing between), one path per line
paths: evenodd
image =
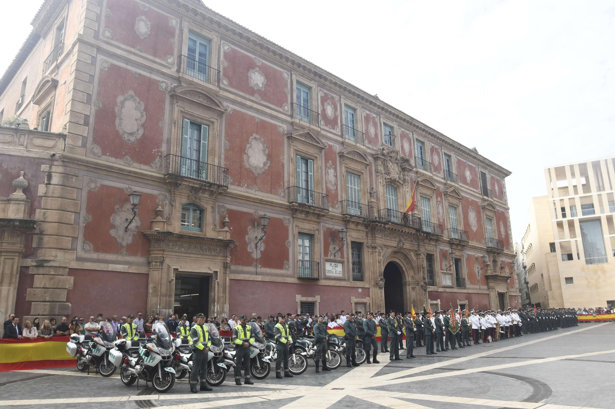
M111 30L113 41L166 61L175 56L178 20L151 6L132 0L108 0L105 29ZM103 33L103 37L105 34ZM143 38L141 38L143 37Z

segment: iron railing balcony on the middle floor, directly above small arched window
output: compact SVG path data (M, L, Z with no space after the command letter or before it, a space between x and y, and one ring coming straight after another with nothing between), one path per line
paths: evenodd
M192 179L221 187L229 185L229 169L172 154L164 157L164 176Z

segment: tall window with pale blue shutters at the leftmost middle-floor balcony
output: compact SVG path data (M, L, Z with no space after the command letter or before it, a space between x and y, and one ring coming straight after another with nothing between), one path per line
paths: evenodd
M207 179L209 127L188 119L181 126L181 174Z

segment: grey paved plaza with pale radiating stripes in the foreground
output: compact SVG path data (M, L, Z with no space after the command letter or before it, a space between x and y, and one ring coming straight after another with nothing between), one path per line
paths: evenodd
M525 335L416 359L235 386L232 376L214 392L189 393L186 380L164 395L124 386L76 368L0 373L0 407L201 409L229 408L614 408L615 324ZM405 357L406 351L401 351ZM11 400L9 399L15 399ZM26 400L27 399L27 400Z

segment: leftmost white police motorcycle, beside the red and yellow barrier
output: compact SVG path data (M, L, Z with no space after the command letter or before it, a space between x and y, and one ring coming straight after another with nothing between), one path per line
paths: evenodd
M97 336L77 335L74 333L66 343L66 352L77 357L77 369L86 372L90 367L97 368L100 375L108 377L116 372L116 365L109 358L113 349L115 332L110 322L102 321Z

